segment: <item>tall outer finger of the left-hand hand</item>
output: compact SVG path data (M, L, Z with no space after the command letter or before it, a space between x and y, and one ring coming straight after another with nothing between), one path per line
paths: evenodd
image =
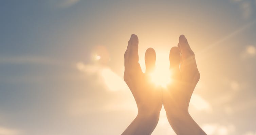
M139 54L138 54L138 45L139 39L135 34L131 35L130 40L128 41L129 46L129 70L130 74L142 73L141 66L139 64Z

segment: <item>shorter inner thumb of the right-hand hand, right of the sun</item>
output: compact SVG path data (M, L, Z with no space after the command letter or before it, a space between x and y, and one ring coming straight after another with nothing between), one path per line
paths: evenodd
M180 50L178 47L172 47L169 54L169 61L170 61L170 70L171 70L171 77L174 80L179 80L181 78L180 75Z

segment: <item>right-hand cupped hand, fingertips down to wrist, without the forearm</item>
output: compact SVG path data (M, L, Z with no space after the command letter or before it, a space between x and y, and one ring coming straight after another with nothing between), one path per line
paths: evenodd
M184 35L179 37L178 47L172 47L169 55L172 82L163 91L163 104L169 122L172 117L188 114L191 95L199 81L195 54Z

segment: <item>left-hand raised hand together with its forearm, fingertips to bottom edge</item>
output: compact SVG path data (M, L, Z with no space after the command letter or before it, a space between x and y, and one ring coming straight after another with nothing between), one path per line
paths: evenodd
M156 62L156 53L152 48L145 53L146 73L141 71L138 55L138 37L131 35L125 52L124 80L129 86L138 107L138 115L124 131L127 135L151 134L159 120L162 108L162 91L155 86L149 77Z

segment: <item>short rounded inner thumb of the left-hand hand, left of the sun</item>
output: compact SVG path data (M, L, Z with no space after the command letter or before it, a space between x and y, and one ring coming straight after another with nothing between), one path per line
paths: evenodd
M146 74L150 74L156 67L156 52L153 48L148 48L145 53Z

